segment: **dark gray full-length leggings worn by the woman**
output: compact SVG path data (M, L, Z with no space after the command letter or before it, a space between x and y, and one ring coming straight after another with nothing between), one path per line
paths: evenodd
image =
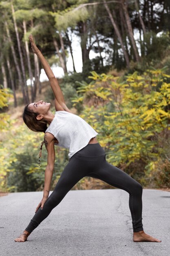
M142 231L142 186L124 171L109 164L106 161L106 153L99 143L88 144L75 153L65 166L53 193L35 213L28 227L25 229L31 233L51 213L71 190L71 188L83 177L93 177L127 191L129 193L129 208L132 216L134 232Z

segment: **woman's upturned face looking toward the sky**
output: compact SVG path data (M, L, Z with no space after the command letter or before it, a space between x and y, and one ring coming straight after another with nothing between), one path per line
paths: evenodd
M49 109L50 109L51 103L47 103L44 101L38 101L29 104L28 108L29 110L39 114L39 115L45 115Z

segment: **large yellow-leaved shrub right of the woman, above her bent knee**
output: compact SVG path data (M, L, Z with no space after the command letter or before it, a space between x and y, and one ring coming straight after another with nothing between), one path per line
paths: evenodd
M170 76L163 70L147 70L141 76L129 74L123 81L91 73L91 83L79 83L73 106L83 104L80 116L89 116L108 162L147 186L147 177L169 154Z

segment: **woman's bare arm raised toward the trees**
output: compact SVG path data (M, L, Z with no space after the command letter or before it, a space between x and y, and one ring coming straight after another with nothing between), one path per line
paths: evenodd
M40 52L38 47L35 45L32 35L29 36L29 40L30 40L30 43L31 43L31 48L33 50L33 53L37 54L39 60L42 63L44 71L45 71L45 73L46 73L46 75L47 75L47 77L50 81L51 89L53 90L55 99L60 104L60 106L62 108L64 108L64 110L65 110L65 108L67 108L67 106L66 106L66 103L64 101L64 96L63 96L62 90L60 88L60 85L59 85L57 79L55 78L55 75L53 74L53 71L51 70L51 67L50 67L49 63L46 61L46 59L44 58L44 56L42 55L42 53Z

